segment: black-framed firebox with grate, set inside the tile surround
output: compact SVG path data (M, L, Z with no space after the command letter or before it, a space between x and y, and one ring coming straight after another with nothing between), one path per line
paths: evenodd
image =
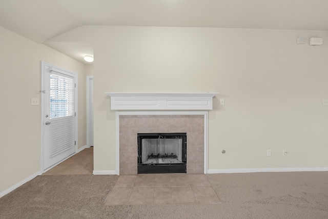
M138 133L138 174L186 173L187 133Z

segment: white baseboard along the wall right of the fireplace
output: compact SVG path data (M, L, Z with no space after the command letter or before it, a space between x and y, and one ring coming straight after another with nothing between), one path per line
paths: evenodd
M302 172L302 171L328 171L328 167L314 168L251 168L251 169L209 169L208 173L256 173L256 172Z

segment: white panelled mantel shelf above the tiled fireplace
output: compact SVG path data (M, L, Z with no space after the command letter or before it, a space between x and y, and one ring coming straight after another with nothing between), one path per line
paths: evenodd
M111 93L111 110L212 110L217 93Z

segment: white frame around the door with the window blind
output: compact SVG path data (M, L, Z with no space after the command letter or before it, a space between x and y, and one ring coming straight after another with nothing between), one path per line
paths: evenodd
M44 93L44 87L45 87L45 85L44 85L44 68L45 68L45 66L49 66L49 67L53 67L53 68L56 68L56 69L58 69L58 70L61 70L61 71L64 71L64 72L69 72L69 73L71 73L71 74L74 74L75 75L75 83L76 83L76 87L75 87L75 103L74 103L74 108L75 108L75 112L76 112L76 117L75 117L75 133L74 133L74 137L75 137L75 140L76 140L76 144L75 144L75 153L74 154L76 154L76 152L77 152L77 148L78 148L78 126L77 126L77 121L78 121L78 108L77 108L77 106L78 106L78 104L77 104L77 100L78 100L78 97L77 97L77 94L78 94L78 79L77 79L77 73L76 72L73 72L73 71L69 71L69 70L66 70L66 69L63 69L63 68L60 68L60 67L58 67L58 66L54 66L54 65L52 65L52 64L49 64L49 63L46 63L46 62L43 62L43 61L41 61L41 90L40 90L40 92L41 92L41 104L40 104L40 107L41 107L41 124L40 124L40 130L41 130L41 143L40 143L40 146L41 146L41 149L40 149L40 172L41 173L44 173L44 172L46 172L45 171L45 169L44 169L44 161L45 161L45 154L44 154L44 140L45 140L45 138L44 138L44 135L45 135L45 133L44 133L44 118L45 118L45 113L44 113L44 103L45 103L45 101L44 101L44 98L45 98L45 93ZM72 154L71 156L73 156L74 154ZM71 157L71 156L69 156L69 157ZM67 157L65 160L67 160L69 157ZM64 160L63 160L64 161ZM63 161L61 161L61 162L63 162ZM61 163L61 162L59 162L59 163ZM59 164L58 163L58 164ZM52 166L52 167L54 167L54 166ZM50 167L49 169L51 169L52 167ZM49 169L47 169L47 170L49 170Z

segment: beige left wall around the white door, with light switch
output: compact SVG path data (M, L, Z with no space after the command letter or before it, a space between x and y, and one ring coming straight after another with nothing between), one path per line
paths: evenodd
M0 192L40 170L41 61L78 73L78 147L85 141L84 65L0 27Z

